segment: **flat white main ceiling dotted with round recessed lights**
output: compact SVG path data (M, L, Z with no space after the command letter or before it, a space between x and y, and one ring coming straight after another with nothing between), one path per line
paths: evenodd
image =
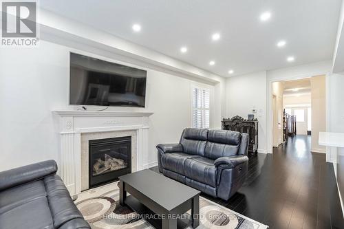
M44 0L40 6L219 76L330 60L341 0ZM270 11L269 21L259 15ZM140 32L131 26L139 23ZM219 41L211 35L221 34ZM277 41L287 41L277 48ZM188 47L182 54L180 47ZM287 56L295 56L293 63ZM210 66L209 61L215 61Z

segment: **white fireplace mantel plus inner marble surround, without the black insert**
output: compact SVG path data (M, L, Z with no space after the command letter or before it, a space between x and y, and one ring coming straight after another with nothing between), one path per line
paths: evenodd
M89 188L89 140L131 136L131 172L148 153L149 116L139 111L53 111L61 136L59 175L69 193Z

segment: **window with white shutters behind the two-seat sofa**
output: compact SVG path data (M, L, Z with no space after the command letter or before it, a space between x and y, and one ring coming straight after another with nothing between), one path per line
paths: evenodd
M192 88L192 125L194 128L209 128L210 89L193 86Z

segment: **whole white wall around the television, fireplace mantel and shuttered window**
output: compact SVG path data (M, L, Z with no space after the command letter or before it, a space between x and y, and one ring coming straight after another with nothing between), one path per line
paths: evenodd
M70 51L95 57L102 53L45 41L37 48L1 50L0 171L41 160L58 160L58 128L52 111L73 109L67 105ZM110 60L109 56L107 53L104 59ZM142 68L144 64L131 66ZM147 108L143 110L154 114L149 120L149 157L144 158L144 164L151 164L156 162L156 144L178 142L182 129L191 126L191 84L200 82L180 74L147 70ZM210 87L216 88L211 95L211 127L219 128L224 112L221 107L224 99L220 98L224 86ZM110 107L109 110L142 109Z

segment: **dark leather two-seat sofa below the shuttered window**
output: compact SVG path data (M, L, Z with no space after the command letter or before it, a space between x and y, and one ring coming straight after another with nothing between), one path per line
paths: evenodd
M157 149L160 173L213 197L228 200L246 179L247 133L187 128Z

